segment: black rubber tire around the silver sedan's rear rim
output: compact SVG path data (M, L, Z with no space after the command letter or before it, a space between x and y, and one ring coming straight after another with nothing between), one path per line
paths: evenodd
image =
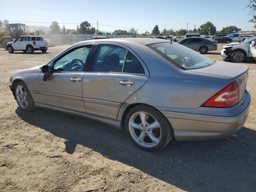
M134 116L136 116L136 114L138 112L143 112L143 113L146 113L148 115L152 115L153 119L156 119L156 121L160 124L160 132L159 132L159 136L158 138L160 139L158 141L158 143L155 145L155 146L151 146L151 147L147 147L147 146L143 146L142 144L139 144L132 136L132 133L130 132L130 129L131 130L137 130L137 133L138 135L140 134L143 134L144 131L142 131L142 129L148 129L148 132L152 132L151 134L156 134L154 133L154 130L155 129L152 129L152 131L149 130L149 125L147 126L148 122L149 122L149 118L148 120L146 120L146 125L142 126L142 122L139 124L141 125L142 127L139 129L133 129L133 128L130 128L129 126L129 123L130 123L130 119L132 119ZM146 116L145 116L146 117ZM149 116L148 116L149 117ZM135 121L135 120L134 120ZM157 128L158 129L158 128ZM173 133L173 129L172 129L172 126L170 125L170 122L167 120L167 118L160 112L158 111L156 108L152 107L152 106L148 106L148 105L145 105L145 104L140 104L140 105L137 105L135 106L134 108L132 108L126 115L126 118L125 118L125 130L126 130L126 133L128 134L129 138L132 140L132 142L134 142L134 144L136 144L136 146L138 146L139 148L141 148L142 150L145 150L145 151L159 151L161 150L162 148L164 148L171 140L172 140L172 137L174 136L174 133ZM147 132L147 131L146 131ZM135 134L135 131L133 133L133 135ZM144 133L145 136L143 137L143 143L147 143L145 140L146 140L146 137L147 137L147 133ZM149 133L148 133L149 134ZM157 138L157 137L156 137ZM150 139L149 138L149 135L148 135L148 138L147 139ZM150 144L150 143L149 143ZM152 144L154 144L152 142Z

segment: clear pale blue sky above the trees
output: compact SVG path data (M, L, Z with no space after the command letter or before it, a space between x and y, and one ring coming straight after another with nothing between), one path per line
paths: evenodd
M217 30L226 26L237 26L242 30L255 30L254 24L248 22L252 15L246 8L249 0L43 0L18 1L0 0L0 20L22 21L26 25L50 26L52 22L64 24L66 28L76 29L82 21L102 31L113 32L117 29L129 30L134 27L139 33L152 31L158 25L164 28L200 27L205 22L212 22ZM28 4L33 6L28 6ZM13 6L11 6L12 4ZM14 6L15 5L15 6ZM106 24L111 26L104 26ZM63 24L59 24L62 28ZM122 28L120 28L122 27Z

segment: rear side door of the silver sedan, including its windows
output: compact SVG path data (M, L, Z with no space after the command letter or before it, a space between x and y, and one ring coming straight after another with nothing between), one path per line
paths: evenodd
M142 87L149 72L135 52L114 43L99 43L83 79L86 113L116 120L120 106Z

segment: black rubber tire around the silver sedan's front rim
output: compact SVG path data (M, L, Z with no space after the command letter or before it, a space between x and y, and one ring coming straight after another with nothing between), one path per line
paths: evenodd
M26 105L26 107L24 108L24 106L21 106L21 104L19 103L19 98L18 95L17 95L17 87L18 86L22 86L24 88L24 91L26 91L26 100L28 102L28 104ZM26 84L22 81L18 81L15 86L14 86L14 95L15 95L15 99L16 99L16 102L18 104L18 106L20 107L21 110L23 111L32 111L32 110L35 110L36 107L35 107L35 104L34 104L34 100L28 90L28 87L26 86Z

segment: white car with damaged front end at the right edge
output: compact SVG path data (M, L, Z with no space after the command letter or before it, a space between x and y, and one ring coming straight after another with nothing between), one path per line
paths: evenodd
M235 42L224 45L221 50L221 58L231 60L232 62L242 63L247 59L255 60L256 58L256 37L250 38L243 42Z

